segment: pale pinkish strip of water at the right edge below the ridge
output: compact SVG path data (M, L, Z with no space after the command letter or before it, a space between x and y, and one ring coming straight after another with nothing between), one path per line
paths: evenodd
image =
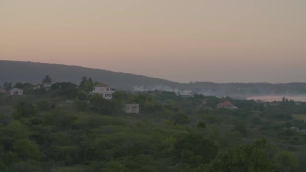
M300 96L254 96L248 97L247 100L261 100L265 102L272 102L272 101L281 101L283 97L287 98L288 100L294 100L295 102L306 102L306 95Z

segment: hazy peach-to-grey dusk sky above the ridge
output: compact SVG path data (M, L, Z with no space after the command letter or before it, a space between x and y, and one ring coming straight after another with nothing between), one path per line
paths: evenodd
M306 82L304 0L0 0L0 59L179 82Z

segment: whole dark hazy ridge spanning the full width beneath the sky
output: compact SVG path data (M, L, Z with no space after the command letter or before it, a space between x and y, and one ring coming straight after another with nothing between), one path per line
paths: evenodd
M92 77L122 90L192 90L196 93L213 96L249 96L277 94L306 94L306 83L179 83L166 79L152 78L122 72L112 72L80 66L48 64L22 61L0 60L0 84L10 82L39 83L49 74L53 82L70 81L80 83L83 76Z

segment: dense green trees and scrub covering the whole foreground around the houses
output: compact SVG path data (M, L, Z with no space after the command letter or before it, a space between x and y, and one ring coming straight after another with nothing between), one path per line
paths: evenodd
M49 76L50 77L50 76ZM51 77L50 77L51 78ZM306 104L173 92L87 95L95 82L0 95L0 171L303 171ZM6 87L10 85L8 82ZM85 91L85 92L84 92ZM216 109L231 101L237 110ZM140 113L126 114L125 103Z

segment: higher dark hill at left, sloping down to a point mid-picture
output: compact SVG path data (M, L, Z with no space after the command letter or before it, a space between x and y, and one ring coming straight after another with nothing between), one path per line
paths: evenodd
M123 90L132 89L135 85L161 84L174 87L178 84L166 79L81 66L0 60L1 83L5 81L39 83L46 74L52 77L53 82L70 81L73 83L80 83L83 76L88 76Z

